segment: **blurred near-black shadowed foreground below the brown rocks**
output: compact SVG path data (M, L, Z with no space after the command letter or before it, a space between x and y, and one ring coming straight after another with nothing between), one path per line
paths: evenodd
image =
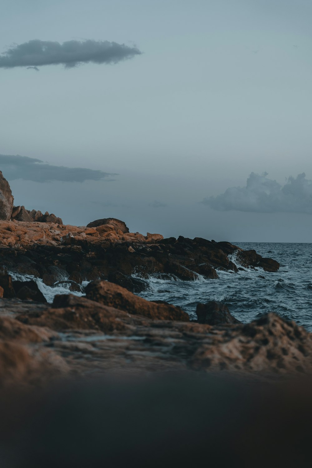
M311 380L194 372L1 395L2 468L310 467Z

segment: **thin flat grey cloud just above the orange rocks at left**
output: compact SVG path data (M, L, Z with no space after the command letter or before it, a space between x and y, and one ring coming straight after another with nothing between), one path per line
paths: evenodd
M66 168L44 163L27 156L0 154L0 170L7 180L31 180L33 182L84 182L85 180L114 180L113 176L100 170L87 168Z

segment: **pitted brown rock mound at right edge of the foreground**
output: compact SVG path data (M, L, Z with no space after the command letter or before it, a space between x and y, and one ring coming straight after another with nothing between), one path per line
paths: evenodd
M311 373L312 335L295 322L271 312L246 325L227 325L226 329L222 339L219 336L212 345L197 349L192 358L194 369Z

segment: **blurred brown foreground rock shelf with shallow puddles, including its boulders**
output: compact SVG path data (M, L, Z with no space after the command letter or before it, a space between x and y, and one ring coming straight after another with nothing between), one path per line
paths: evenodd
M32 385L63 373L312 373L312 335L276 314L212 326L189 322L174 306L145 301L108 282L91 283L87 295L59 295L51 305L1 300L3 385Z

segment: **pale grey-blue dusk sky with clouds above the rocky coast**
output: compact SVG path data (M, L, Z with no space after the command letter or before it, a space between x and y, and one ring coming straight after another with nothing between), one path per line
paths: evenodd
M310 0L2 0L0 170L66 224L312 241Z

